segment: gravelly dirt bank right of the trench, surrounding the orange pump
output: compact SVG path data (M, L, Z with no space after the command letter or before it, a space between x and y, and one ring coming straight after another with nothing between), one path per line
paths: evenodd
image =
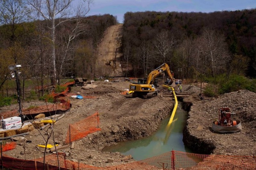
M184 91L191 89L185 88ZM196 94L196 93L195 93ZM197 91L199 94L199 91ZM196 95L194 95L196 99ZM198 96L197 96L198 98ZM188 113L187 126L183 132L183 141L198 153L221 155L256 154L256 94L247 90L239 90L224 94L218 98L192 100ZM184 99L191 102L191 97ZM241 120L242 131L219 134L211 130L211 122L218 119L218 109L229 107L236 113L235 120Z

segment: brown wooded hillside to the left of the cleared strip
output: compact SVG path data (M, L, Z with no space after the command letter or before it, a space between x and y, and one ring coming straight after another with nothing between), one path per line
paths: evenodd
M88 78L95 75L94 51L104 32L116 24L116 18L105 14L89 16L79 20L65 21L56 18L55 29L55 64L57 81L70 76ZM11 74L8 66L20 64L21 89L26 80L33 79L35 86L51 83L52 40L49 22L34 20L3 24L0 26L0 90L8 89ZM42 92L43 93L43 92ZM43 95L43 94L42 94Z

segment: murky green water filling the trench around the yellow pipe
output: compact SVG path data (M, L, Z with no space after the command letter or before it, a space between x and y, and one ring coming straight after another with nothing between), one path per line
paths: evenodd
M165 118L157 131L150 137L134 141L121 142L118 145L106 148L105 152L121 152L124 155L132 155L135 160L143 160L169 151L176 150L191 152L184 146L182 130L186 125L188 112L178 104L171 126L167 126L170 116Z

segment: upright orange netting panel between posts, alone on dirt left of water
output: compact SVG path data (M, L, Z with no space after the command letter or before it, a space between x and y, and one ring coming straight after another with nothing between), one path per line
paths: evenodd
M65 143L70 144L73 141L84 138L90 133L100 131L99 123L100 117L98 112L96 112L93 115L76 122L76 124L70 124Z

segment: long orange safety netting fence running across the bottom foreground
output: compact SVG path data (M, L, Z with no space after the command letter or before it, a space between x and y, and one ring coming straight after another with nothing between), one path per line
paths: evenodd
M77 160L78 161L78 160ZM120 160L119 160L120 161ZM149 159L135 161L119 166L96 167L73 162L65 158L65 154L52 154L35 160L23 160L3 155L4 167L12 169L72 169L72 170L252 170L256 169L256 160L253 156L224 156L203 155L171 151ZM59 163L58 163L59 162Z

